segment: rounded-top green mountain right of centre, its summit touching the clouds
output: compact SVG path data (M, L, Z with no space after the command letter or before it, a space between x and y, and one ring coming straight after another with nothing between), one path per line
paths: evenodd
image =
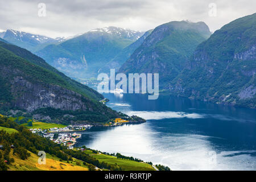
M159 86L164 88L183 69L196 46L210 36L204 22L169 22L156 27L130 58L122 73L159 73Z

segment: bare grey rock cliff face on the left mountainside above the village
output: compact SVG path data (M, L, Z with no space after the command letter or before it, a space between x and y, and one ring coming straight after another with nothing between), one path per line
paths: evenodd
M22 76L14 77L11 84L11 93L15 100L13 106L25 109L28 112L41 107L52 107L61 110L86 110L90 109L82 100L86 100L81 94L77 94L58 85L34 84L25 80Z

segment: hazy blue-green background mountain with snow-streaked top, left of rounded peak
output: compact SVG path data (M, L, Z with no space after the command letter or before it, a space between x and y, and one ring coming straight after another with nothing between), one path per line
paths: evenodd
M36 55L68 76L96 77L103 65L142 35L118 27L98 28L61 44L49 45Z

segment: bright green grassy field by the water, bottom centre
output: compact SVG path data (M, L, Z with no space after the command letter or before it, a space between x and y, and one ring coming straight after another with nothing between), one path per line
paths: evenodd
M117 163L118 166L127 171L155 171L150 164L146 163L139 163L133 160L117 159L115 156L105 154L96 154L91 156L98 159L100 162L104 161L109 164Z

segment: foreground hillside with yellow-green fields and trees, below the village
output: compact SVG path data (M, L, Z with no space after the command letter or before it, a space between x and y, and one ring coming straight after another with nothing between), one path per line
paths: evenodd
M0 127L0 170L154 170L152 163L142 163L131 157L124 158L121 154L117 154L117 157L102 152L104 158L101 158L101 155L97 155L98 151L89 148L69 150L32 134L26 127L4 116L0 117ZM38 151L45 151L47 161L54 165L37 165Z

